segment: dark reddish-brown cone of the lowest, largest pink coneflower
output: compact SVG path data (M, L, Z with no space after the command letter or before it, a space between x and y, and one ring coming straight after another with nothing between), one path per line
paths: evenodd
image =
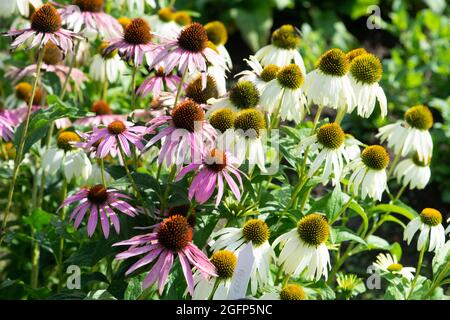
M192 241L192 228L187 219L173 215L164 219L158 227L158 242L168 250L180 251Z

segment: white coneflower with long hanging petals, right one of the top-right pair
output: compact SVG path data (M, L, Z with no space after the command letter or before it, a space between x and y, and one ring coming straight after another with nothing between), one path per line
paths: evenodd
M378 82L381 79L383 67L380 59L367 53L355 57L350 64L350 83L356 98L358 115L370 117L378 100L381 116L387 115L387 100L383 88Z

